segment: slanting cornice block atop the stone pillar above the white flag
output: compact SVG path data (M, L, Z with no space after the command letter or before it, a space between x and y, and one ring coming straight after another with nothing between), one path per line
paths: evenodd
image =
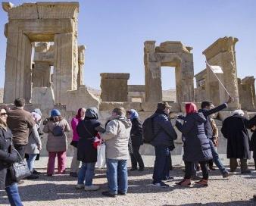
M225 36L217 39L212 45L206 48L202 54L205 55L206 59L209 60L220 52L233 51L233 48L239 39L233 36Z

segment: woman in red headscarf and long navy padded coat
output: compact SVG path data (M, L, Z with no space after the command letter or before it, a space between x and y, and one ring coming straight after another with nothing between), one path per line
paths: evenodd
M195 183L201 186L208 186L208 167L207 161L212 158L210 140L204 132L206 119L203 114L198 113L194 103L186 103L186 118L182 124L176 120L176 127L184 136L184 155L185 176L182 181L176 183L178 186L190 186L192 177L192 167L195 162L201 166L203 178Z

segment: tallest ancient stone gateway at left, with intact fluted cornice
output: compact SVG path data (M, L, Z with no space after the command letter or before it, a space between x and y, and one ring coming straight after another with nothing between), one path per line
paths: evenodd
M65 104L67 90L77 89L78 2L24 3L16 7L3 2L2 7L8 12L9 20L5 24L4 102L11 103L20 96L30 102L32 42L54 42L55 103Z

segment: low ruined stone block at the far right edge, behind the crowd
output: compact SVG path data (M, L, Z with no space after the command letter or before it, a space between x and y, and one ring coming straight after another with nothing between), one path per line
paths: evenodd
M256 109L255 98L255 79L254 76L246 76L244 79L238 79L239 83L239 100L241 108L247 111Z

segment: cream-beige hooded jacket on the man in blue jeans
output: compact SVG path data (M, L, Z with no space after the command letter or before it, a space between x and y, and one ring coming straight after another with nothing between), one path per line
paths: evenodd
M128 141L132 123L126 117L113 117L106 126L102 139L106 144L106 158L128 160Z

